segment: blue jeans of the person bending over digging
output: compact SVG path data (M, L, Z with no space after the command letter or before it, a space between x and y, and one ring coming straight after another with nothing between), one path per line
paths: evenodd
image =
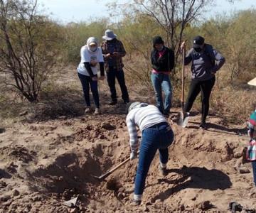
M174 141L174 132L166 122L156 124L142 131L142 142L139 149L139 163L135 178L134 195L142 195L149 166L159 150L160 162L168 162L168 146Z

